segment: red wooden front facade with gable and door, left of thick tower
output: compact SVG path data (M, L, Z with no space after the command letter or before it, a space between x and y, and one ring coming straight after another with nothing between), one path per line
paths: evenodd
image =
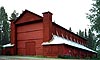
M11 23L11 43L15 44L14 53L17 55L43 55L42 17L26 10Z

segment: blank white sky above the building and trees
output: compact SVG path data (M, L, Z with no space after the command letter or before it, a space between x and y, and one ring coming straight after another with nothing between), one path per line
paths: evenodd
M89 26L86 13L92 7L92 0L0 0L0 7L4 6L10 14L16 10L22 13L25 9L42 16L43 12L53 13L53 21L73 32L84 30Z

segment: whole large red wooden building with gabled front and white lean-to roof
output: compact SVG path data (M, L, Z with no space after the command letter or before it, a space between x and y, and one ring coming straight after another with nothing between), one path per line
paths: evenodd
M11 20L12 55L42 55L57 57L92 57L96 52L87 48L87 40L52 22L52 13L43 17L25 10L17 20ZM3 53L5 54L5 53Z

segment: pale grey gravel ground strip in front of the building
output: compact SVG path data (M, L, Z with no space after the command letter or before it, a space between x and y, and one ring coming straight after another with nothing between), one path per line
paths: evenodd
M32 56L0 56L0 60L70 60L70 59L40 58L40 57L38 58Z

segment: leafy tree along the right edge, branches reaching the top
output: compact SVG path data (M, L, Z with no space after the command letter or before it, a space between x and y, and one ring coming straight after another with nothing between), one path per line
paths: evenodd
M100 0L93 0L92 8L87 13L87 18L91 22L92 31L96 31L97 42L96 46L100 46Z

